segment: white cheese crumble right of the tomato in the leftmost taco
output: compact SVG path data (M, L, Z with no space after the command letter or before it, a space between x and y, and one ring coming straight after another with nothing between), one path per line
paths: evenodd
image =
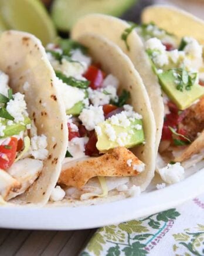
M39 160L44 160L47 155L48 151L46 149L47 147L47 137L42 135L35 135L30 139L30 154L35 158Z

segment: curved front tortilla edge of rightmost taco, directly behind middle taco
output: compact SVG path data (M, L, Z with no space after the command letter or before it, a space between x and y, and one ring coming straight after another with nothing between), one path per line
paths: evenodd
M145 53L144 45L142 44L140 36L137 35L137 32L132 31L128 36L130 51L127 50L125 42L121 39L121 34L129 27L130 25L121 19L102 14L90 14L84 16L84 18L81 18L76 23L72 31L72 38L77 39L80 35L87 32L104 36L118 45L131 59L135 68L141 75L149 95L152 111L154 112L157 129L155 151L157 152L164 122L164 104L161 97L161 88L158 84L157 76L152 72L151 64ZM157 102L157 104L155 104L155 102Z

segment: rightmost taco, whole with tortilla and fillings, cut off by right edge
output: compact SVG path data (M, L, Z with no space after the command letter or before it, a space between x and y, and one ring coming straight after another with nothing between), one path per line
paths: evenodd
M83 32L103 35L129 56L147 88L158 125L158 171L165 182L174 183L183 177L183 167L203 159L204 22L167 6L146 8L142 22L88 15L76 24L73 37ZM157 94L152 93L155 89Z

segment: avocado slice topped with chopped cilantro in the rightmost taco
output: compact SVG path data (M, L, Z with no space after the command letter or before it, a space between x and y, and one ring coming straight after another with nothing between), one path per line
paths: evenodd
M183 91L176 89L174 71L164 71L158 74L159 82L166 95L176 104L176 106L184 110L191 106L191 104L199 99L204 94L204 87L194 84L191 89L187 91L183 88Z

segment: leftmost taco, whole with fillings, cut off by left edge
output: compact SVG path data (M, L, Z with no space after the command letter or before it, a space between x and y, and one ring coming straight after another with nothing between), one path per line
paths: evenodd
M66 152L65 114L39 39L0 36L1 202L46 204Z

